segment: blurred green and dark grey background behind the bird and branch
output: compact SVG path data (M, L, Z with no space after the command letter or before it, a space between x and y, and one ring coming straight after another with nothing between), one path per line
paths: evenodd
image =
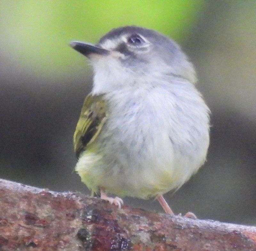
M0 177L89 194L72 170L72 136L92 85L72 40L114 27L155 29L180 43L211 108L208 161L174 195L174 212L256 224L255 1L0 2ZM124 199L161 210L156 201Z

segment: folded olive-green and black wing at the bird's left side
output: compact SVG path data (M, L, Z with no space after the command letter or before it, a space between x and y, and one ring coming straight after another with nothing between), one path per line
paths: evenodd
M96 139L106 120L107 105L103 95L89 94L84 100L73 137L77 157Z

